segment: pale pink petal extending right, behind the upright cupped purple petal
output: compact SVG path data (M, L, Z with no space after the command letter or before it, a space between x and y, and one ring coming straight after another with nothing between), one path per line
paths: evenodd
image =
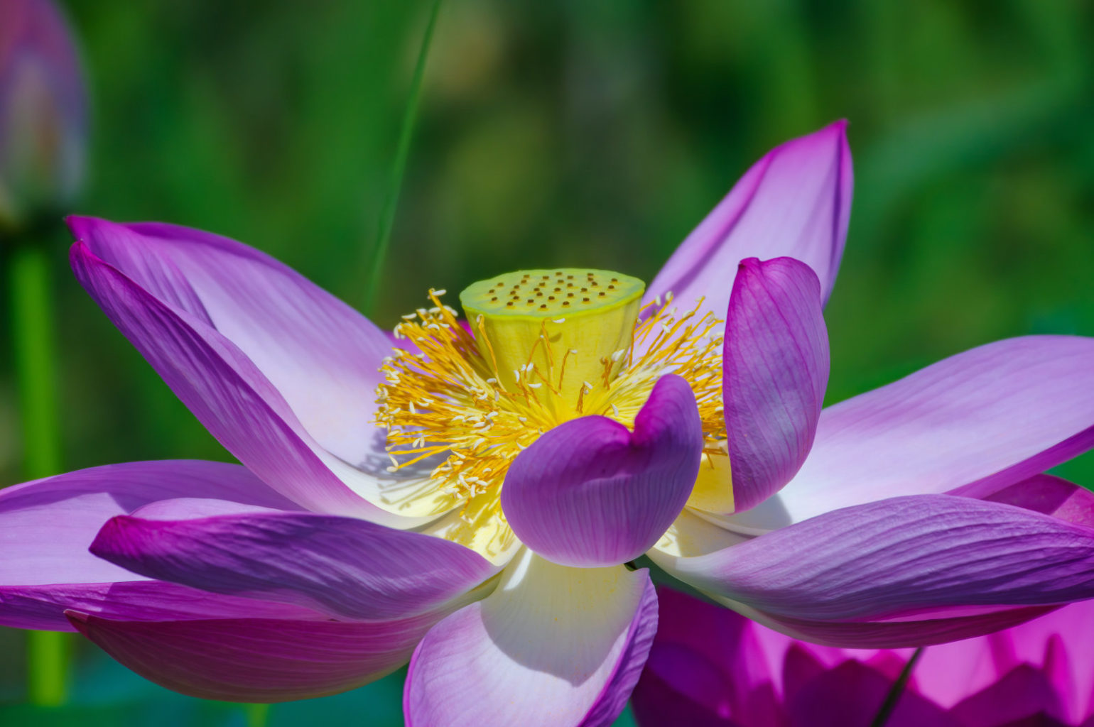
M825 409L778 496L789 521L895 495L975 496L1092 446L1094 339L1014 338Z

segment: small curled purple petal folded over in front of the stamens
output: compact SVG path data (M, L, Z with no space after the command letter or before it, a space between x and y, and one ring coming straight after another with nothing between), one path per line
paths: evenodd
M702 446L691 387L662 376L633 433L607 417L582 417L536 439L505 473L501 508L521 542L555 563L625 563L684 509Z

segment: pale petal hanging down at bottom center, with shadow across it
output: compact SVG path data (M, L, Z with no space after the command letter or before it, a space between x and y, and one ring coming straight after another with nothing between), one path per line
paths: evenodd
M647 571L569 568L525 550L492 595L426 634L407 675L407 725L609 725L656 624Z

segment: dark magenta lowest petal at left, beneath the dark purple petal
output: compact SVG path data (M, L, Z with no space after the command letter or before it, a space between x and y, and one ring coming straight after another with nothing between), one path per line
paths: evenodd
M69 614L88 638L146 679L233 702L286 702L365 684L406 664L440 618L430 612L379 622L141 622Z

